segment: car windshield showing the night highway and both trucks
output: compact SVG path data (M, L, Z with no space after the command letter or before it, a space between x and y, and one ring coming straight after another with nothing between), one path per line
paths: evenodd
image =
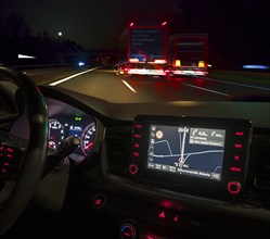
M263 0L1 0L0 64L105 101L270 98Z

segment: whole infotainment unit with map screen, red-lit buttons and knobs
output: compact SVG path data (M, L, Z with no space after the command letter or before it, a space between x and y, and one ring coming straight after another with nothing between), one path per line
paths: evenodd
M248 120L138 115L129 174L175 191L241 199L250 135Z

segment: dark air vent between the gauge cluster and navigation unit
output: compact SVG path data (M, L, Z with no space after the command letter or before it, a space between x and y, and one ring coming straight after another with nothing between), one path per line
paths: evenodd
M130 158L132 127L111 127L106 130L108 165L113 173L125 175Z

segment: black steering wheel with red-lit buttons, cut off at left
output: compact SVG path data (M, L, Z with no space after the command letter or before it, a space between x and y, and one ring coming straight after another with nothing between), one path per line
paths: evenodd
M22 143L7 130L0 130L0 237L25 210L42 176L49 130L47 106L33 80L23 73L0 66L0 84L1 81L15 84L25 96L29 140L27 143ZM15 116L12 114L0 114L0 126L14 120ZM13 181L12 189L3 200L9 188L5 186L11 181Z

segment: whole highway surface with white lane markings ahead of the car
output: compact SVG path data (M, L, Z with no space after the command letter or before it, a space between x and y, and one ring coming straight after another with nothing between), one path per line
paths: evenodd
M51 85L90 95L110 102L156 101L224 101L255 96L261 100L270 97L269 83L221 80L211 77L182 77L168 80L165 77L117 75L113 66L74 70L57 77L34 77L37 84ZM68 75L68 77L67 77ZM29 76L33 77L29 73ZM63 77L61 77L63 76ZM40 80L42 78L42 80Z

